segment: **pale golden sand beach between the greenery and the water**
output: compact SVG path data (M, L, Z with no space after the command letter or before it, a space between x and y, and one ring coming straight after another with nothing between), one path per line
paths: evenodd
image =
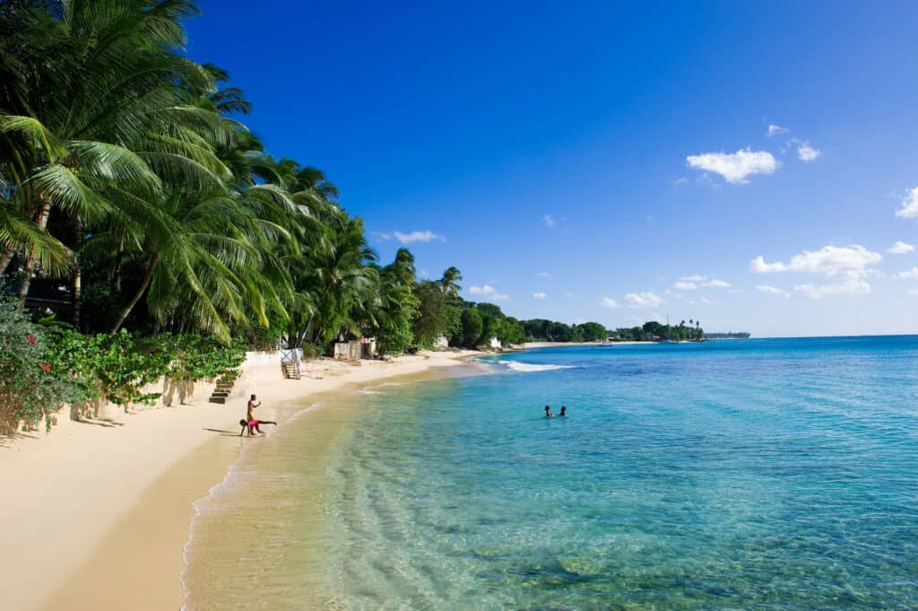
M303 379L284 379L276 364L247 364L225 405L202 399L95 424L61 416L48 436L6 443L0 600L17 611L179 608L193 504L222 481L242 448L258 443L238 436L252 393L263 402L260 413L274 419L285 403L305 405L321 393L353 392L480 354L422 352L361 367L312 361L306 367L315 375ZM333 401L323 404L333 409Z

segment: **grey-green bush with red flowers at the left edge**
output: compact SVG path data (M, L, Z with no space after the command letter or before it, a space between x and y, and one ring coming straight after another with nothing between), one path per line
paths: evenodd
M14 433L20 422L36 428L42 417L50 429L50 415L63 403L86 398L53 361L53 346L39 325L17 310L17 302L0 300L0 433Z

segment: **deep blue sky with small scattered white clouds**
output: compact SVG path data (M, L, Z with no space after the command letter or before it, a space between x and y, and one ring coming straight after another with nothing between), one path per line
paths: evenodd
M203 0L188 52L469 299L918 332L918 5L797 4Z

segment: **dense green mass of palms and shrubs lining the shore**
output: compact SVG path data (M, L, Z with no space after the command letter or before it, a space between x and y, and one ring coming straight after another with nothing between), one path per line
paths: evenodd
M0 421L150 401L151 380L222 375L246 348L609 336L463 300L457 268L419 281L407 249L381 265L328 177L265 152L228 74L185 57L196 12L0 0Z

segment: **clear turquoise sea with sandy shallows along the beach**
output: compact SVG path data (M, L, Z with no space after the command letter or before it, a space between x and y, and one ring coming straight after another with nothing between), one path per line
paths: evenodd
M253 608L918 607L918 337L485 361L360 395L322 460L308 419L263 440L189 607L224 572L270 585ZM252 515L202 572L208 525Z

